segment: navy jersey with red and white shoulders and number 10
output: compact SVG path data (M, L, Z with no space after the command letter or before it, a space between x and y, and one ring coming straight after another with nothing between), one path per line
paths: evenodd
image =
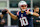
M32 12L32 10L28 9L26 11ZM17 16L19 19L19 27L32 27L32 15L27 15L27 12L24 11L24 13L21 13L21 11L17 12Z

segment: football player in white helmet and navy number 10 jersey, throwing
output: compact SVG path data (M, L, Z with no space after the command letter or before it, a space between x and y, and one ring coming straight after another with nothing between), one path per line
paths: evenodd
M12 17L13 20L19 19L19 27L33 27L32 15L39 16L39 14L32 12L31 9L27 9L27 3L25 1L20 1L18 4L21 11L17 12L17 16L10 13L8 9L7 13Z

